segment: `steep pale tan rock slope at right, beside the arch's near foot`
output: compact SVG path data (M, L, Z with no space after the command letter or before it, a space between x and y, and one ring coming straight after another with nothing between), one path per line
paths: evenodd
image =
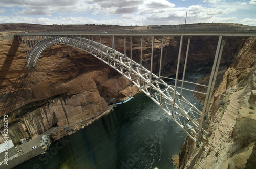
M256 141L256 38L248 38L211 101L199 147L186 139L179 168L244 168ZM255 153L254 153L255 154Z

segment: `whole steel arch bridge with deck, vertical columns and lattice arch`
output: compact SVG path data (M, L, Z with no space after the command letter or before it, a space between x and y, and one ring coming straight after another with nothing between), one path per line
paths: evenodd
M57 35L57 36L56 36ZM169 85L163 79L166 77L161 76L161 63L162 63L162 54L163 54L163 41L165 34L153 34L146 35L152 36L152 52L151 52L151 67L150 70L147 70L142 66L142 42L143 42L143 34L135 34L135 35L124 35L124 34L82 34L82 33L25 33L16 35L19 37L19 42L23 44L25 54L27 57L27 66L28 68L32 68L36 66L36 63L40 57L40 54L48 47L54 44L65 44L70 45L76 48L79 48L87 53L92 54L94 57L108 64L120 74L125 76L127 79L132 81L134 85L136 85L141 91L143 91L148 97L150 97L158 106L160 106L169 116L172 118L178 126L191 138L194 142L198 142L200 139L200 135L202 133L207 132L203 129L203 123L205 114L207 114L210 99L212 96L212 92L214 90L215 80L218 72L218 67L221 60L221 55L223 51L223 47L225 44L225 38L222 34L212 34L211 36L219 36L216 54L214 59L214 64L212 66L211 76L209 80L209 85L204 86L207 87L207 93L202 93L206 95L203 110L200 111L196 108L192 103L190 103L186 98L182 96L183 84L185 82L184 76L186 71L186 64L188 58L189 44L191 35L194 34L174 34L180 36L180 47L178 53L178 62L176 69L176 77L173 79L175 81L174 85ZM197 35L197 34L195 34ZM201 34L199 34L201 35ZM253 34L254 36L255 34ZM140 63L137 63L132 58L132 38L133 37L141 38L141 60ZM207 34L207 36L209 36ZM224 36L234 36L232 34L225 34ZM248 35L241 35L248 36ZM249 35L250 36L250 35ZM93 37L98 37L99 42L93 41ZM111 38L111 47L103 45L101 42L102 37ZM124 49L126 49L126 37L130 37L131 40L131 54L130 58L126 56L126 50L124 50L124 54L116 51L115 49L115 38L122 37L124 38ZM161 45L161 55L160 55L160 66L159 66L159 74L156 75L153 73L153 50L154 50L154 39L162 38ZM182 50L183 39L187 38L187 49L185 56L185 63L183 69L183 77L182 80L178 80L178 72L179 72L179 64L180 64L180 56ZM181 82L181 86L177 86L177 82ZM188 82L193 83L193 82ZM200 85L194 83L196 85ZM177 88L179 88L180 93L177 92ZM193 90L190 90L193 91ZM198 91L195 91L198 92ZM199 92L201 93L201 92Z

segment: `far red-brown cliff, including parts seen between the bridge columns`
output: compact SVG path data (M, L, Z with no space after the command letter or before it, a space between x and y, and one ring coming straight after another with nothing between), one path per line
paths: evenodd
M75 132L108 110L108 102L115 98L123 100L138 92L138 88L108 65L82 50L67 45L54 45L40 56L33 71L26 69L26 55L20 45L15 52L12 44L14 32L2 32L0 41L1 98L0 114L8 114L10 138L17 144L22 138L33 138L56 125L54 139ZM239 45L240 38L229 38L225 47L223 64L230 63ZM99 39L93 38L94 41ZM140 62L141 38L115 38L115 47ZM152 37L143 37L142 65L150 69ZM218 38L192 37L187 68L211 64L215 55ZM203 41L203 42L202 42ZM110 38L102 38L102 43L111 47ZM154 40L153 71L159 71L162 39ZM180 68L184 67L187 39L182 46ZM180 37L164 37L162 75L176 72ZM230 48L229 48L230 47ZM10 52L10 49L11 52ZM6 55L11 57L6 57ZM14 54L13 54L14 53ZM180 70L181 70L180 69ZM3 131L3 119L0 130ZM63 130L68 127L70 130ZM62 131L62 132L61 132ZM0 143L4 141L0 136Z

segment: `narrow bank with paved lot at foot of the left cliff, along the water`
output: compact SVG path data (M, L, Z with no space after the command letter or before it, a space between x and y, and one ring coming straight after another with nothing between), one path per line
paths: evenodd
M43 134L32 139L26 140L26 142L23 144L12 144L13 146L8 149L9 156L7 162L4 160L5 152L0 153L0 168L13 168L40 154L44 154L48 150L52 142L61 139L63 136L73 134L76 131L83 129L85 126L92 124L95 120L101 118L102 116L108 115L111 112L112 108L115 107L115 105L110 105L109 107L110 108L108 110L103 111L91 118L88 118L82 123L77 123L63 127L51 127ZM61 133L61 137L59 137L59 133Z

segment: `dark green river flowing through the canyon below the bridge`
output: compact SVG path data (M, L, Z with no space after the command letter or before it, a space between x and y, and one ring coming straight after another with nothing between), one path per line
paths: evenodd
M186 80L196 81L202 70L188 71ZM195 89L195 85L184 86ZM201 109L200 103L184 91L184 97ZM84 129L51 144L45 154L15 168L175 168L186 134L144 93L117 105L108 115Z

